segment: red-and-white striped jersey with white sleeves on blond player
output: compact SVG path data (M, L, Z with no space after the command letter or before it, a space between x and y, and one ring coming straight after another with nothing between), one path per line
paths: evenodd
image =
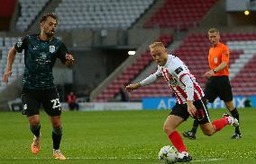
M158 65L156 73L151 74L140 83L142 86L148 85L155 82L158 77L164 77L168 82L178 104L184 104L187 100L199 100L205 96L195 76L189 72L187 66L177 56L168 55L167 63L163 66Z

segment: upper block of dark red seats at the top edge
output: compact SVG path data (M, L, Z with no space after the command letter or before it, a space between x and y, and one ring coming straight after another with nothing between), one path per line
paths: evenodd
M165 0L160 9L145 22L145 28L187 30L197 26L216 0Z

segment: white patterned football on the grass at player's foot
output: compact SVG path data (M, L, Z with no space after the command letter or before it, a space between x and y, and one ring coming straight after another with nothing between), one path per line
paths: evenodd
M174 146L164 146L160 149L159 159L164 164L175 163L178 159L178 151Z

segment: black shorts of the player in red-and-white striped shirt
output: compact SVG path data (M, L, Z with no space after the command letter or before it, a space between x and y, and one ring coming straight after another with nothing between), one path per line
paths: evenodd
M206 98L196 100L193 102L194 106L197 108L197 115L196 117L193 117L197 120L198 124L206 124L210 123L210 117L206 106ZM176 104L171 112L169 112L169 115L174 115L178 117L182 117L185 121L190 116L187 112L187 104Z

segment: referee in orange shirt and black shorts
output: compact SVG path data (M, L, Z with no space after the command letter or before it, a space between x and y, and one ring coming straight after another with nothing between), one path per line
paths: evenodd
M239 113L233 106L233 93L229 82L229 48L221 43L219 30L213 28L208 30L208 37L212 44L209 49L208 63L210 71L204 74L208 79L206 83L206 99L208 102L214 102L217 97L224 100L225 107L230 111L232 117L239 121ZM228 114L224 114L228 115ZM183 135L189 139L196 139L198 123L194 121L190 131L183 132ZM235 128L232 139L242 137L239 126Z

